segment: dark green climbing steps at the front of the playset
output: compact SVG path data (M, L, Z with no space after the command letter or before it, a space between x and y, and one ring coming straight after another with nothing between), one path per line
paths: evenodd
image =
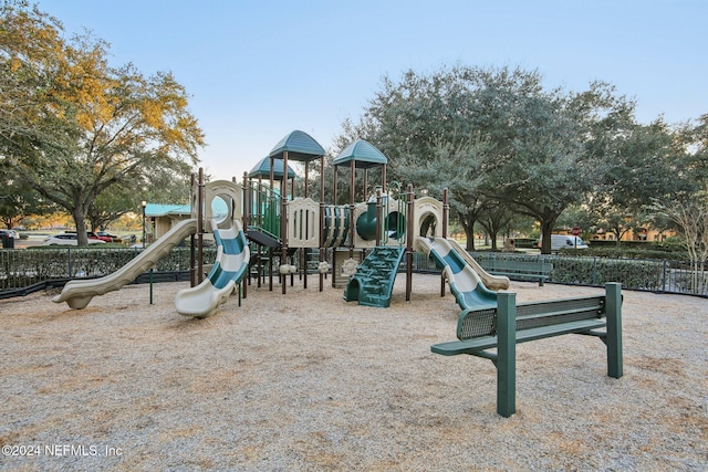
M378 247L366 255L344 289L344 300L387 308L405 248Z

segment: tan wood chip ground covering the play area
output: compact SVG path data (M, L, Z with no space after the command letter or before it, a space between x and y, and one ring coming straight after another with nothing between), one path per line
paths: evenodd
M316 276L253 284L207 319L175 312L186 283L155 284L152 305L147 284L82 311L0 301L0 470L708 470L707 300L624 291L621 379L597 338L519 345L502 418L491 361L430 353L455 339L454 297L439 276L413 283L389 308Z

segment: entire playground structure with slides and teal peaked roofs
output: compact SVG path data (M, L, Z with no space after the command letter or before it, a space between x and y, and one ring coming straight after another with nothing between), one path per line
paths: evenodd
M440 201L428 196L416 198L410 185L406 189L398 183L387 185L387 159L365 140L352 143L333 160L333 195L337 195L339 169L348 167L350 201L343 204L323 201L322 171L320 201L312 199L310 164L319 159L320 169L324 169L324 154L312 137L295 130L281 139L250 174L246 172L242 183L235 179L205 182L200 169L191 181L191 218L177 223L114 274L72 281L53 301L83 308L93 296L119 290L152 269L187 237L191 287L176 295L175 307L181 315L198 318L214 315L237 290L246 298L253 277L259 287L268 277L271 291L279 280L285 294L288 276L292 285L299 274L306 289L312 272L309 262L315 251L320 291L331 273L333 286L346 285L344 298L362 305L388 306L402 263L406 268L406 301L410 300L414 245L442 270L464 310L476 303L494 303L493 290L509 286L507 277L487 274L466 251L448 240L447 189ZM289 161L302 162L304 167L303 196L295 196L294 172ZM381 167L382 181L375 191L369 191L367 172L374 167ZM357 170L364 172L363 199L358 202ZM218 248L210 268L205 265L202 255L205 238L214 238Z

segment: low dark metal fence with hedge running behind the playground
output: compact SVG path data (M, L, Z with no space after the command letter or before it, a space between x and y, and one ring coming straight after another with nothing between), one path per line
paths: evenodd
M0 250L0 297L22 295L31 291L28 287L62 285L71 279L107 275L125 265L140 251L139 248L2 249ZM214 261L216 249L205 248L204 251L204 260ZM498 252L473 252L471 255L482 265L490 259L549 262L553 264L549 283L603 286L606 282L620 282L625 290L708 297L706 264ZM316 270L319 262L316 251L311 251L308 259L308 265ZM414 254L414 270L440 272L435 263L421 253ZM154 274L154 280L157 281L188 280L189 249L174 248L158 261ZM139 276L136 280L137 283L143 281L147 281L147 277Z

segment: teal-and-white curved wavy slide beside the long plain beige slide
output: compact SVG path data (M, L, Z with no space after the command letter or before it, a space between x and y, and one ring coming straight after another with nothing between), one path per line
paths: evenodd
M250 251L241 223L235 221L229 229L220 230L211 220L211 229L217 242L216 262L199 285L177 292L175 308L180 315L195 318L214 315L248 273Z

